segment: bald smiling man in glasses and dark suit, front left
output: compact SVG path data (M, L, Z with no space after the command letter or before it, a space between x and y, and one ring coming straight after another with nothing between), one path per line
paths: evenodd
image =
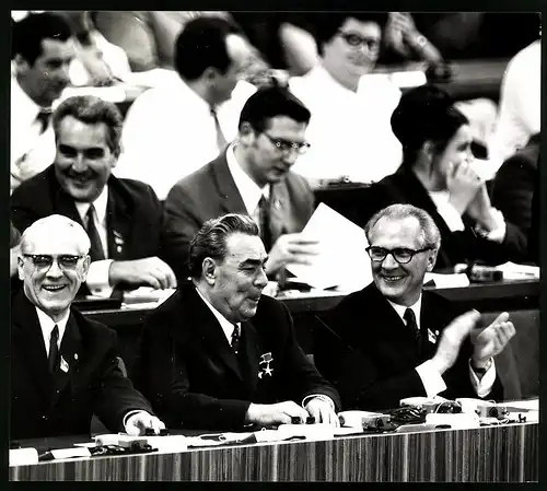
M89 434L95 413L112 432L164 424L124 377L116 332L71 307L89 270L90 239L56 214L23 233L23 290L12 301L11 437Z

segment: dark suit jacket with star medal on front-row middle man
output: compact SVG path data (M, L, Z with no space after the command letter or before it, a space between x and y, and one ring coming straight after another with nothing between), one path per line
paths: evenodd
M147 318L138 387L171 428L241 429L251 402L274 404L334 388L298 344L287 307L263 295L256 315L242 323L236 358L219 322L186 281ZM271 353L272 375L261 355ZM136 382L137 383L137 382Z

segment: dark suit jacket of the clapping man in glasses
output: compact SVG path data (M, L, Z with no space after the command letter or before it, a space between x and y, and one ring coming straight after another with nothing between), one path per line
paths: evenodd
M432 332L441 332L458 313L450 302L432 292L423 292L420 323ZM324 315L326 328L317 329L315 364L337 388L344 409L391 409L406 397L427 396L416 372L435 353L428 343L421 355L416 335L408 328L382 293L372 283L351 293ZM465 342L452 369L443 379L447 389L442 397L478 397L469 378L470 342ZM502 397L497 377L488 399Z

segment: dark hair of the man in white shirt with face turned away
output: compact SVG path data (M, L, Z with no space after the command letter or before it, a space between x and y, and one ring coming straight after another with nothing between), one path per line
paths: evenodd
M209 67L225 73L232 63L226 49L229 34L242 35L242 32L225 19L200 16L189 21L175 40L177 73L189 81L199 79Z

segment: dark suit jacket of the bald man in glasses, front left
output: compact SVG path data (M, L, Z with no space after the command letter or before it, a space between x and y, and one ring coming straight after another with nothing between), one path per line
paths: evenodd
M12 301L11 439L89 434L95 413L109 431L123 430L130 410L152 412L124 377L115 354L116 332L71 309L60 355L65 373L49 374L33 304L21 291Z

